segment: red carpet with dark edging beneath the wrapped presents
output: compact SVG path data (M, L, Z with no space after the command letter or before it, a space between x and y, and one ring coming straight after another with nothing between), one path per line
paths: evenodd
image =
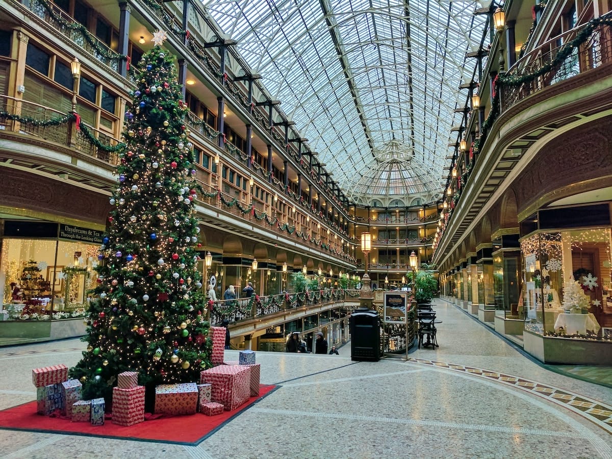
M222 414L216 416L197 413L191 416L159 417L129 427L113 424L109 419L104 425L91 425L88 422L72 422L59 417L40 416L36 414L36 401L34 400L0 411L0 428L196 446L228 420L271 394L276 388L277 386L262 385L259 389L259 397L251 397L240 408L234 411L223 411Z

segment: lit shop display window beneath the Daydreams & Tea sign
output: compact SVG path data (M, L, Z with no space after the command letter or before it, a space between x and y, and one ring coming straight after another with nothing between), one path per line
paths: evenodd
M48 239L2 241L2 318L48 320L83 316L95 287L97 245Z

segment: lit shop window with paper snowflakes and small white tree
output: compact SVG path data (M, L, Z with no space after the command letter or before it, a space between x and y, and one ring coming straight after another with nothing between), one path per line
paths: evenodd
M525 328L547 336L611 340L610 228L536 233L521 241Z

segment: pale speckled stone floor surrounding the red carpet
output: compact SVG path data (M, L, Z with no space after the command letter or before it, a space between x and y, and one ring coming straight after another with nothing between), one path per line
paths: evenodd
M612 458L612 390L553 373L436 301L440 347L409 360L257 353L280 388L197 447L0 430L5 458ZM3 348L0 409L35 398L31 368L75 364L78 340ZM237 360L238 351L225 351ZM200 415L196 415L200 416ZM185 417L185 422L194 422Z

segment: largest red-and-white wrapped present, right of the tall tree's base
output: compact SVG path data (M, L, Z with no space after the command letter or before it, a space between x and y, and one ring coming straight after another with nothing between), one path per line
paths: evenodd
M200 373L200 383L212 384L212 401L227 411L238 408L250 397L251 365L218 365Z

